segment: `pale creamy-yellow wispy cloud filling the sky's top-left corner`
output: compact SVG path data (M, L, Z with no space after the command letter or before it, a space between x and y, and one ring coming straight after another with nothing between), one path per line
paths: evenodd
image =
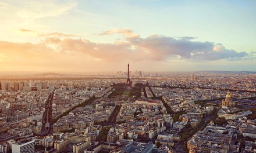
M38 30L49 30L51 27L63 29L62 23L73 22L73 15L70 12L76 10L77 2L68 1L4 1L0 2L0 33L8 35L2 40L20 39L20 34L35 36L34 31L26 31L37 27ZM72 17L70 17L72 16ZM65 21L63 21L65 20ZM20 31L16 31L20 29ZM13 30L15 36L13 37ZM18 32L18 33L17 33ZM24 40L22 40L24 41Z

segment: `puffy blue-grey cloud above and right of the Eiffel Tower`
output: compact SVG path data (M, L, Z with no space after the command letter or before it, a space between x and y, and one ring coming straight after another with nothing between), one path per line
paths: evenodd
M152 35L148 38L129 38L132 45L147 51L151 60L165 60L168 57L179 56L183 60L221 60L236 57L246 57L246 52L236 52L219 46L216 52L213 42L196 42L190 39L176 39L161 35ZM215 48L215 50L214 50Z

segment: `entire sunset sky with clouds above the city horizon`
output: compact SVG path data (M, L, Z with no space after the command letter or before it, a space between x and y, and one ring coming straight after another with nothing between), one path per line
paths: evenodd
M255 0L0 0L0 71L256 71L255 16Z

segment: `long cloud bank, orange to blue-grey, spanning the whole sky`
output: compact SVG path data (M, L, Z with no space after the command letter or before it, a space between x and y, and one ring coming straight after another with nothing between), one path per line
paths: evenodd
M22 29L23 32L34 32ZM106 31L101 35L120 33L129 36L130 30ZM175 38L151 35L147 38L126 37L114 43L95 43L73 35L51 32L39 34L40 43L0 42L0 65L36 67L83 67L91 61L120 63L121 61L234 61L253 60L255 53L226 49L220 43L191 41L191 37ZM95 64L95 63L94 63ZM56 68L58 69L58 68Z

